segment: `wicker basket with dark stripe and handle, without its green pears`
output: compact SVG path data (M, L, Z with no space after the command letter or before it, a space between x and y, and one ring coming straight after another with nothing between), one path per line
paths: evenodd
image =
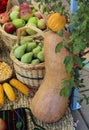
M33 37L33 38L42 38L40 36L40 33L42 33L42 31L40 31L39 29L35 28L35 27L23 27L20 28L18 30L18 38L17 38L17 45L19 44L20 38L21 38L21 31L27 29L27 28L33 28L34 30L38 31L39 36L38 35L33 35L33 36L29 36L29 38ZM21 82L23 82L24 84L28 85L30 88L35 88L37 89L43 78L44 78L44 74L45 74L45 66L44 63L39 63L37 65L32 65L32 64L24 64L22 62L20 62L17 58L15 58L13 50L10 53L10 57L11 60L13 62L14 65L14 70L15 70L15 74L17 79L19 79Z

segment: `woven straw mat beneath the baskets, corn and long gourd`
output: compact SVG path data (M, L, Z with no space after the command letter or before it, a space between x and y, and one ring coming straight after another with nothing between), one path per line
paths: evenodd
M1 39L0 39L0 60L8 62L13 68L13 64L9 56L9 49L4 45L4 42L2 42ZM28 108L30 107L30 101L32 99L31 95L29 97L26 97L23 94L19 93L17 90L15 90L15 93L17 97L16 101L11 102L5 97L5 105L3 108L1 108L1 110L9 110L11 105L13 105L14 109L20 107L28 107ZM28 120L28 130L33 130L34 125L31 121L28 112L27 112L27 120ZM42 127L44 127L45 130L73 130L73 117L71 115L70 109L68 109L65 115L62 117L62 119L56 123L47 124L39 120L36 120L36 122Z

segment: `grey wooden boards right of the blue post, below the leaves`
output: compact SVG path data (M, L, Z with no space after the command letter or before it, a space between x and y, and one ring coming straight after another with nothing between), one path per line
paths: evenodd
M74 122L77 124L75 130L89 130L89 68L81 71L81 78L84 78L85 87L79 89L79 101L85 97L79 110L72 111ZM76 125L75 124L75 125Z

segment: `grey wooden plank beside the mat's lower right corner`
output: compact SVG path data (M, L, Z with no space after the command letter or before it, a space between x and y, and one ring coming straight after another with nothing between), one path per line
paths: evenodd
M74 122L78 122L76 130L89 130L78 110L72 111Z

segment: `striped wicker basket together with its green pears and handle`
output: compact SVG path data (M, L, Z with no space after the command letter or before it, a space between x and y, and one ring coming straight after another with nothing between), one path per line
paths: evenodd
M44 32L33 27L38 31L39 37L36 35L21 36L23 30L30 28L31 26L22 27L18 30L17 43L10 52L10 58L17 79L37 90L45 75L44 44L43 38L40 37L40 33L44 34Z

